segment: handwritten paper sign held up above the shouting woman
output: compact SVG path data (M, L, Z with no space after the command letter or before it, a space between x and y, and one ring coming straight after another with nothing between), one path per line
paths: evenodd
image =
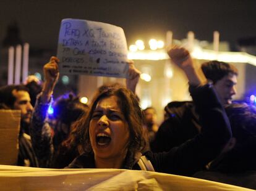
M66 18L57 56L63 74L127 78L127 43L119 26Z

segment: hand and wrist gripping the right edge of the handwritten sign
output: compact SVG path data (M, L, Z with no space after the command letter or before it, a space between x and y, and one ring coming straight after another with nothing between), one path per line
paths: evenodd
M129 71L128 71L128 78L126 79L126 87L127 89L130 89L130 91L134 92L136 91L136 86L140 79L140 71L135 68L134 62L132 60L129 60Z

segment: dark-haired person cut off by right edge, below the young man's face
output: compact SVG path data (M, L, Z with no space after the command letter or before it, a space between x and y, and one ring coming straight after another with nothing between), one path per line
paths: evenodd
M233 138L211 168L224 172L256 170L256 108L247 104L225 107Z

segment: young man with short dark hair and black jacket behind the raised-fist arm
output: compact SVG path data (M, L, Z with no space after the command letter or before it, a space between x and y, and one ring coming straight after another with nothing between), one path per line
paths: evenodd
M236 94L237 68L216 60L203 63L201 68L208 81L213 83L221 104L231 104ZM153 152L164 152L181 145L196 136L202 127L194 102L171 102L164 110L167 117L151 144Z

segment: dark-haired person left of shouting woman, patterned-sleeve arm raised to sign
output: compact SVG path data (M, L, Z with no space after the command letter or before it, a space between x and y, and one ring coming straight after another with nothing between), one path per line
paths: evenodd
M54 112L48 116L48 107L52 102L51 94L59 76L59 73L54 73L54 70L58 71L58 65L55 66L52 62L58 62L58 59L51 58L50 63L44 67L46 81L38 95L30 129L39 166L64 168L79 155L79 150L73 144L65 145L63 142L71 136L72 123L87 112L88 106L82 104L74 94L64 94L52 104ZM47 104L44 104L45 102Z

